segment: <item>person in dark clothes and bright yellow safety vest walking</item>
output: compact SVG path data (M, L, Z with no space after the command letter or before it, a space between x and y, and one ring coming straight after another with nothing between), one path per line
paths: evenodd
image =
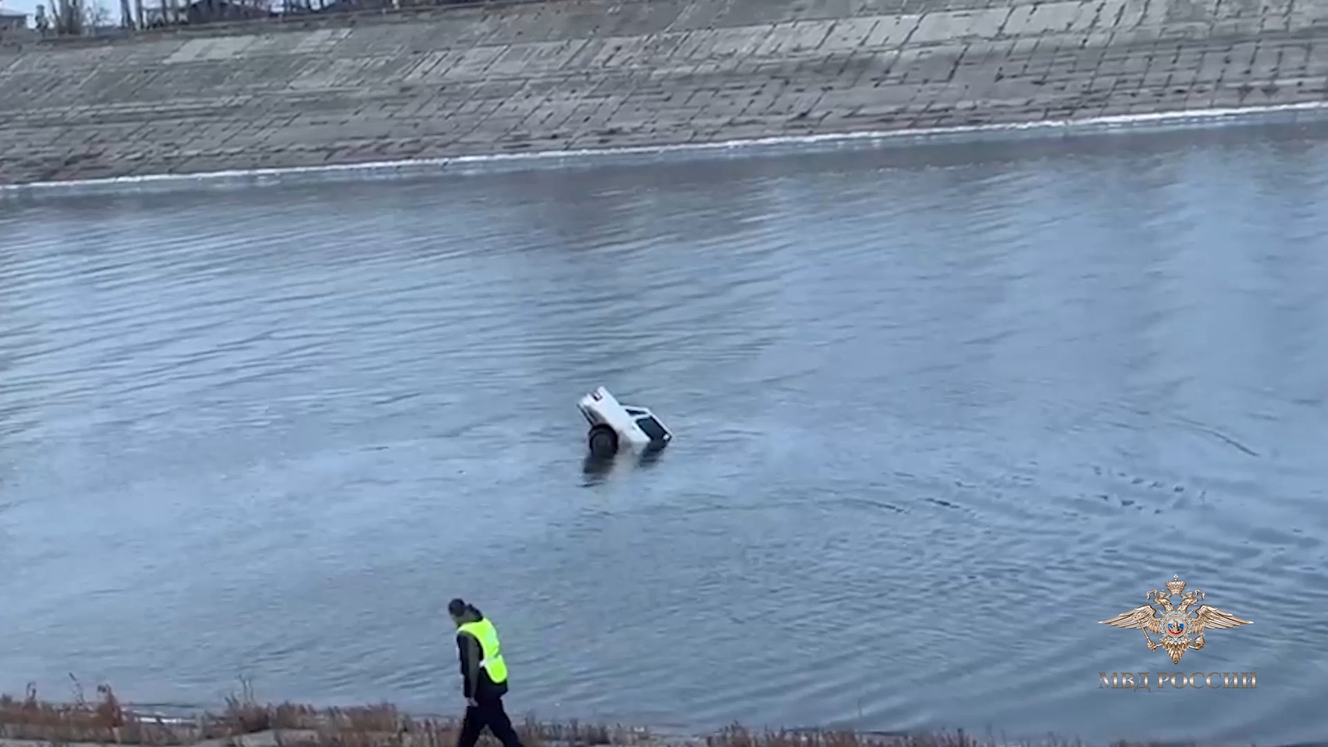
M502 696L507 694L507 663L494 623L463 599L448 602L448 614L457 625L457 653L466 696L466 718L461 722L457 747L475 747L486 726L503 747L522 747L502 707Z

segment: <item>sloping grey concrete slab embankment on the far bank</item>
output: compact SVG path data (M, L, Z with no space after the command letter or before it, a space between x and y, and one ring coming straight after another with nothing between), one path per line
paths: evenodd
M1328 0L547 0L0 49L0 183L1328 100Z

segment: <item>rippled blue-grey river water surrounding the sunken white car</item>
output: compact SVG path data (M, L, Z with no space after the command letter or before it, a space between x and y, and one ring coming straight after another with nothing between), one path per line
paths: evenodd
M0 689L459 712L463 595L518 714L1328 738L1324 205L1259 132L0 203ZM1098 625L1173 574L1254 625Z

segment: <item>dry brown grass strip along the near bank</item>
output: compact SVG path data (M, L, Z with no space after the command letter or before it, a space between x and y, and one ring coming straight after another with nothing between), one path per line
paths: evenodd
M165 720L121 707L108 685L97 687L89 703L74 682L74 702L37 698L29 686L23 699L0 695L0 739L29 739L50 744L100 743L166 747L215 740L242 744L244 735L271 732L278 747L454 747L459 722L420 719L390 703L351 708L316 708L296 703L259 703L246 683L218 712L191 719ZM659 738L641 728L527 719L518 726L526 747L997 747L1004 739L973 738L963 731L926 735L875 735L849 731L749 731L732 726L703 739ZM243 740L248 742L248 740ZM1076 740L1049 738L1046 747L1081 747ZM498 747L487 732L481 746ZM1117 743L1114 747L1163 747L1154 743ZM1174 744L1166 747L1177 747Z

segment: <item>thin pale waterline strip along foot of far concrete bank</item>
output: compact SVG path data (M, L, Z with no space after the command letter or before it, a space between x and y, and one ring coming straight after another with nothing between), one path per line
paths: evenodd
M1142 134L1211 128L1255 128L1328 121L1328 101L1255 105L1226 109L1114 114L1080 120L1042 120L1021 124L957 125L916 130L867 130L814 136L773 136L717 142L637 145L623 148L586 148L578 150L542 150L527 153L481 153L438 158L404 158L325 163L317 166L276 166L232 169L199 173L161 173L85 179L60 179L28 183L0 183L0 199L57 193L60 195L127 194L153 190L228 189L274 185L305 185L372 178L437 177L448 173L462 175L566 167L566 161L583 166L612 165L639 157L683 154L699 158L770 157L807 154L831 149L870 149L930 146L955 142L1001 142L1076 136ZM459 169L458 169L459 167Z

